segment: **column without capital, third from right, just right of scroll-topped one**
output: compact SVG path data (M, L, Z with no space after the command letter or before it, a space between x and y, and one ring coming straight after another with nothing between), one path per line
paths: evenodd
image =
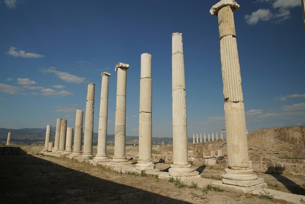
M138 170L152 170L152 55L141 55Z

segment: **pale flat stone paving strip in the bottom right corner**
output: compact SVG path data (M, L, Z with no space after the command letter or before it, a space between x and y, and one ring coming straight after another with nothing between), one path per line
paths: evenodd
M250 193L256 194L256 195L260 195L260 193L261 193L261 194L265 195L266 192L269 193L270 195L273 195L273 198L275 198L275 199L284 200L284 201L291 202L294 204L303 204L301 202L301 200L302 199L305 200L305 196L302 196L302 195L285 193L283 191L278 191L278 190L273 190L273 189L268 189L268 188L253 190Z

